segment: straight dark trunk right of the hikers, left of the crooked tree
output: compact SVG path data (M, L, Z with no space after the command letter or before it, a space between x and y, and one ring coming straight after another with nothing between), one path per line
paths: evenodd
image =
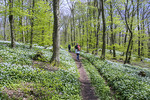
M105 59L105 49L106 49L106 42L105 42L105 31L106 31L106 24L105 24L105 13L104 13L104 1L101 0L102 5L102 20L103 20L103 46L102 46L102 55L101 59Z

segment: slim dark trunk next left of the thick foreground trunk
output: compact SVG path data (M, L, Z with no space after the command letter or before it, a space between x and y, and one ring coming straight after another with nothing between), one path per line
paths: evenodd
M35 4L35 1L33 0L33 2L32 2L32 18L31 18L31 37L30 37L30 49L32 48L32 44L33 44L34 4Z

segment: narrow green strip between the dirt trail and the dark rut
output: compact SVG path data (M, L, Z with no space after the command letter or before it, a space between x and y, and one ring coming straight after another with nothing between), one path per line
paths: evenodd
M113 100L110 88L106 85L105 80L100 76L98 70L86 59L83 59L82 63L99 99Z

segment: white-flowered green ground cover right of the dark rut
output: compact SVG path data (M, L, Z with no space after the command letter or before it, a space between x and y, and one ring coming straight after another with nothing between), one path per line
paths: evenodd
M81 53L81 55L87 58L103 75L119 100L150 99L150 71L148 69L102 61L99 57L87 53ZM141 71L146 73L145 77L138 75Z

